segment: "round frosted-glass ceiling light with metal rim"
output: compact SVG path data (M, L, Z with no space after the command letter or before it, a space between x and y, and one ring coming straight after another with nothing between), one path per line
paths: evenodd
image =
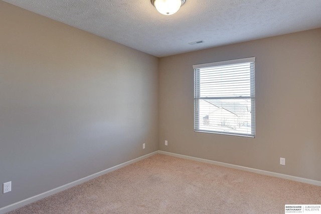
M163 15L172 15L180 10L185 0L150 0L156 10Z

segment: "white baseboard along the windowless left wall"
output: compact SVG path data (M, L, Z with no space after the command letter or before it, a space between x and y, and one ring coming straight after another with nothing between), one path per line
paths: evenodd
M40 200L40 199L42 199L42 198L48 197L48 196L50 196L50 195L53 195L53 194L55 194L55 193L58 193L58 192L63 191L63 190L65 190L65 189L68 189L68 188L73 187L73 186L75 186L75 185L81 184L81 183L86 182L86 181L88 181L88 180L91 180L91 179L93 179L93 178L99 177L99 176L101 176L101 175L103 175L103 174L106 174L106 173L108 173L108 172L114 171L114 170L119 169L119 168L121 168L121 167L127 166L127 165L132 164L132 163L134 163L134 162L137 162L137 161L139 161L139 160L145 159L145 158L150 157L150 156L152 156L152 155L154 155L154 154L157 154L157 153L158 153L158 151L151 152L151 153L146 154L146 155L143 155L143 156L141 156L141 157L137 157L137 158L135 158L135 159L129 160L129 161L124 162L124 163L121 163L121 164L119 164L119 165L110 167L110 168L108 168L108 169L102 170L102 171L97 172L97 173L94 173L94 174L89 175L89 176L87 176L87 177L80 178L79 180L75 180L75 181L73 181L73 182L70 182L70 183L67 183L67 184L65 184L65 185L59 186L59 187L57 187L57 188L51 189L51 190L46 191L46 192L44 192L44 193L35 195L35 196L33 196L33 197L29 197L29 198L27 198L27 199L18 201L18 202L16 202L16 203L10 204L10 205L8 205L8 206L4 206L4 207L0 208L0 214L4 214L4 213L9 212L9 211L12 211L12 210L14 210L14 209L18 209L18 208L20 208L20 207L22 207L22 206L24 206L24 205L27 205L27 204L29 204L29 203L35 202L35 201L37 201L37 200Z

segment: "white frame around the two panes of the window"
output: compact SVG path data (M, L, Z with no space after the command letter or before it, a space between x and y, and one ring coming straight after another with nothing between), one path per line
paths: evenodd
M200 69L211 68L211 67L214 68L218 66L236 65L241 63L250 63L250 96L249 97L242 96L242 99L246 98L251 100L251 133L244 134L244 133L238 133L238 132L224 132L224 131L217 131L217 130L210 131L210 130L200 129L200 120L201 120L200 111L199 111L200 101L205 100L204 99L205 97L203 98L200 97L200 93L201 93ZM198 64L198 65L193 65L193 69L194 69L194 131L255 138L255 57ZM218 99L238 99L238 97L220 97L220 98L206 97L206 98L217 99L217 100Z

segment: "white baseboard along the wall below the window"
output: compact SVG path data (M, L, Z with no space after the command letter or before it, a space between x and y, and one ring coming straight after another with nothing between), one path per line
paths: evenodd
M172 152L167 152L167 151L159 150L158 153L159 154L171 155L171 156L175 156L175 157L180 157L180 158L184 158L184 159L189 159L189 160L196 160L196 161L204 162L204 163L215 164L215 165L219 165L219 166L225 166L225 167L229 167L229 168L233 168L233 169L240 169L240 170L243 170L243 171L249 171L249 172L254 172L254 173L258 173L258 174L269 175L269 176L273 176L273 177L284 178L284 179L288 179L288 180L299 181L299 182L302 182L302 183L308 183L308 184L321 186L321 181L318 181L318 180L312 180L312 179L307 179L307 178L303 178L303 177L296 177L296 176L287 175L287 174L281 174L281 173L277 173L277 172L264 171L264 170L260 170L260 169L254 169L254 168L249 168L249 167L245 167L245 166L239 166L239 165L234 165L234 164L229 164L229 163L223 163L223 162L214 161L214 160L207 160L207 159L198 158L198 157L191 157L191 156L172 153Z

